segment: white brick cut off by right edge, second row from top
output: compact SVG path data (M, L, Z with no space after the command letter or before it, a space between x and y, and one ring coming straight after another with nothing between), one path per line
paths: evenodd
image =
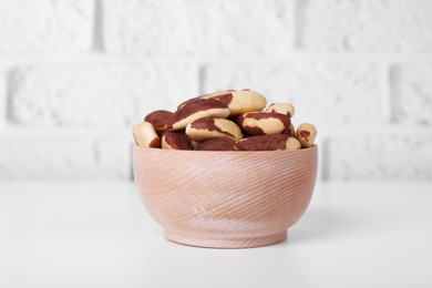
M432 124L432 63L394 66L391 85L397 123Z

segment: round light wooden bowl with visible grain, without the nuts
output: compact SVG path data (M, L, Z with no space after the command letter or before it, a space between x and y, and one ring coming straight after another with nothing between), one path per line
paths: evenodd
M172 241L218 248L284 241L312 196L318 147L204 152L133 147L142 200Z

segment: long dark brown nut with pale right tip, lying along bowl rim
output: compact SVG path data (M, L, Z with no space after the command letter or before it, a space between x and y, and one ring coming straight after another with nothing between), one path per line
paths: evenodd
M260 135L237 141L240 151L292 151L301 148L300 142L288 134Z

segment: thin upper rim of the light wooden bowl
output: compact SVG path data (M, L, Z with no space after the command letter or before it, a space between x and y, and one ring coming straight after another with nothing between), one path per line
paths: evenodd
M152 151L152 152L160 152L160 153L196 153L196 154L203 154L203 153L212 153L212 154L300 154L300 153L308 153L313 152L318 150L318 145L313 144L313 146L308 148L300 148L300 150L292 150L292 151L286 151L286 150L276 150L276 151L195 151L195 150L164 150L164 148L154 148L154 147L143 147L137 145L136 143L133 143L133 147L142 151Z

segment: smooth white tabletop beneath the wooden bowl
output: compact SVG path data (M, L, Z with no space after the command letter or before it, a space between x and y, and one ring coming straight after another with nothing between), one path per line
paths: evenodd
M432 185L320 183L288 241L207 249L133 183L0 184L0 287L432 287Z

